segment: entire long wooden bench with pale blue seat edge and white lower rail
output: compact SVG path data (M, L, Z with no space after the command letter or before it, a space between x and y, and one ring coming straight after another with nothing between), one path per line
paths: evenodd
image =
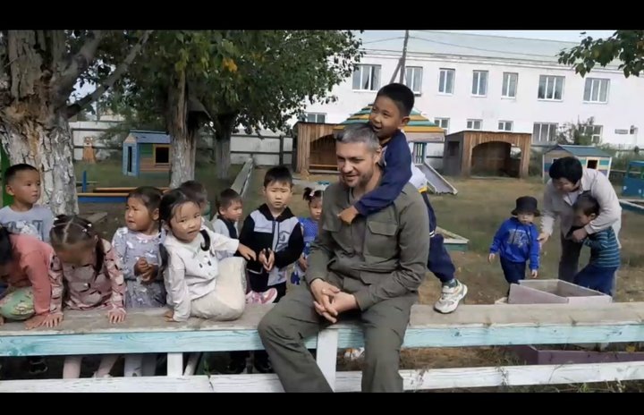
M191 318L167 323L163 309L131 310L120 325L105 312L68 312L55 329L26 331L20 323L0 327L0 355L168 353L167 377L9 380L0 392L279 392L273 374L183 377L182 352L260 350L258 321L270 306L250 306L233 322ZM463 305L453 314L430 306L412 309L404 347L502 346L510 344L644 342L644 303L583 305ZM360 347L355 323L335 325L308 339L318 365L337 392L360 391L360 372L336 372L339 349ZM402 370L405 390L498 385L555 385L644 379L644 362Z

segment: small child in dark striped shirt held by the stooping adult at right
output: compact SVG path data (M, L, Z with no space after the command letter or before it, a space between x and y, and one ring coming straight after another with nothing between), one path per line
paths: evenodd
M580 194L572 208L576 226L585 226L599 215L599 203L589 193ZM590 233L583 244L590 247L589 264L574 276L573 283L612 296L615 273L620 266L620 250L613 228Z

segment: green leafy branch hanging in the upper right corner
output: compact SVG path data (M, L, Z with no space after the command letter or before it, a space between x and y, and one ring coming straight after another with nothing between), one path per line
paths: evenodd
M644 30L617 30L606 39L587 37L580 46L563 50L558 56L560 64L574 67L581 76L597 64L605 67L616 59L622 61L619 69L626 78L640 76L644 70Z

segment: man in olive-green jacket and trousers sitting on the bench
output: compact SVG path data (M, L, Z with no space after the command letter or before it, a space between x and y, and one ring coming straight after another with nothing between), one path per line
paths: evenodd
M343 224L340 212L381 181L381 148L369 125L360 124L343 131L335 151L342 181L326 188L306 284L267 313L258 333L286 392L333 392L303 339L337 319L360 318L362 391L402 392L400 350L427 272L427 207L407 184L394 204Z

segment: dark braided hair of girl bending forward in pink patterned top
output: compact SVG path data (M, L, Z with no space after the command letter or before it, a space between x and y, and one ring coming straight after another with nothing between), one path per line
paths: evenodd
M80 242L96 241L96 264L94 271L100 273L103 269L105 259L105 248L103 241L94 229L89 220L80 216L58 215L54 219L54 225L49 233L49 239L54 249L64 250L67 245L75 245Z

